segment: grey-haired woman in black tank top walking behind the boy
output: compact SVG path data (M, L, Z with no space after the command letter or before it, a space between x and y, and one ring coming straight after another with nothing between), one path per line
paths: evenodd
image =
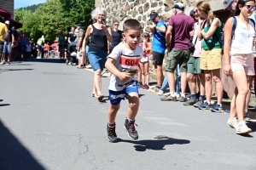
M92 95L101 101L104 98L101 75L108 56L108 42L112 42L113 37L111 28L106 25L107 11L105 8L97 7L91 12L91 17L96 20L96 23L87 27L82 51L85 51L85 44L90 37L88 57L95 73Z

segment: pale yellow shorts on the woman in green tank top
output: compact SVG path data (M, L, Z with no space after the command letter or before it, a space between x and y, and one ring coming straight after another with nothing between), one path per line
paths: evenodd
M211 50L201 50L200 69L212 71L221 68L222 48L214 48Z

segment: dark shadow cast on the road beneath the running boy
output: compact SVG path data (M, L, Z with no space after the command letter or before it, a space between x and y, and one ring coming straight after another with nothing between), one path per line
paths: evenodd
M189 144L187 139L173 139L166 137L165 139L153 139L153 140L125 140L119 139L118 142L125 142L135 144L133 147L137 151L146 150L166 150L164 147L168 144Z

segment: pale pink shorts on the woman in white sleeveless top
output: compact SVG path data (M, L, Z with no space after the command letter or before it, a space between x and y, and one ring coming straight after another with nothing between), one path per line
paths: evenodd
M255 75L253 54L231 55L230 65L232 72L245 71L247 76Z

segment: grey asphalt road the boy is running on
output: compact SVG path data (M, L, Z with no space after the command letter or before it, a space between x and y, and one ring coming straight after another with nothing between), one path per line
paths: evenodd
M0 65L0 169L256 169L256 127L237 135L227 115L162 102L140 90L139 139L123 128L128 108L118 113L118 143L106 133L108 98L90 96L93 73L32 59ZM102 78L108 95L109 78Z

